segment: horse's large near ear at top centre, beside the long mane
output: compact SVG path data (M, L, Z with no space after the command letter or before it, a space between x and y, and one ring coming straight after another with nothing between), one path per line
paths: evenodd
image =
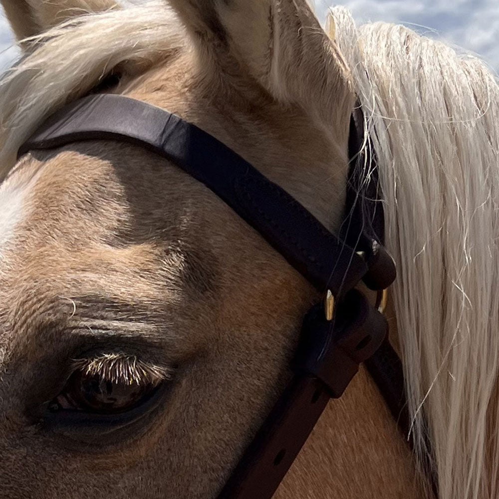
M220 61L236 58L241 70L279 101L305 104L319 112L337 109L343 120L343 108L351 112L354 100L346 64L306 0L169 3L200 52L218 58L219 67Z

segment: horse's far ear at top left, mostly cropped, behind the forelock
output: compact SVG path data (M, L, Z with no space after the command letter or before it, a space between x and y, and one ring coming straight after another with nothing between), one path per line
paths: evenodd
M117 7L115 0L0 0L18 40L41 34L67 19Z

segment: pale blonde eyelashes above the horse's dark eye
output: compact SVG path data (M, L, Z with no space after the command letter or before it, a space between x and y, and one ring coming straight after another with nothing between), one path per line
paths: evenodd
M145 362L135 355L109 353L87 359L73 359L71 374L81 371L86 376L100 376L113 383L126 385L159 385L172 379L173 370Z

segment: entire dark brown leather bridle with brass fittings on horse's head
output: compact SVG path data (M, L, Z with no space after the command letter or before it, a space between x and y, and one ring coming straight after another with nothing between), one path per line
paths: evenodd
M50 117L20 148L54 149L116 140L159 154L205 184L320 292L306 314L292 380L255 435L219 499L270 499L330 398L340 397L365 362L405 435L408 415L401 362L376 304L355 286L381 292L395 279L383 247L376 162L360 154L362 115L350 125L351 168L345 221L331 234L296 200L220 141L178 116L118 95L91 95ZM365 170L368 180L365 181Z

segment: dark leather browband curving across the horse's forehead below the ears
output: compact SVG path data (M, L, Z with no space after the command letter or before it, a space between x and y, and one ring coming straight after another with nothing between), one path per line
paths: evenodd
M361 257L222 142L145 102L110 94L85 97L50 117L19 156L86 140L128 142L171 160L224 200L320 291L339 297L364 277L371 288L384 289L395 277L383 248Z

